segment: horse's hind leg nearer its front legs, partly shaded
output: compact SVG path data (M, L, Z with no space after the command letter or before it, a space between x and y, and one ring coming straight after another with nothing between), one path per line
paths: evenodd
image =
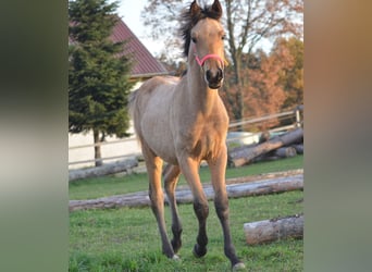
M177 203L174 195L175 187L178 182L178 177L181 174L179 166L168 164L163 170L164 177L164 187L165 193L168 195L168 200L170 202L171 212L172 212L172 247L174 252L176 254L182 246L181 234L182 234L182 223L178 217Z

